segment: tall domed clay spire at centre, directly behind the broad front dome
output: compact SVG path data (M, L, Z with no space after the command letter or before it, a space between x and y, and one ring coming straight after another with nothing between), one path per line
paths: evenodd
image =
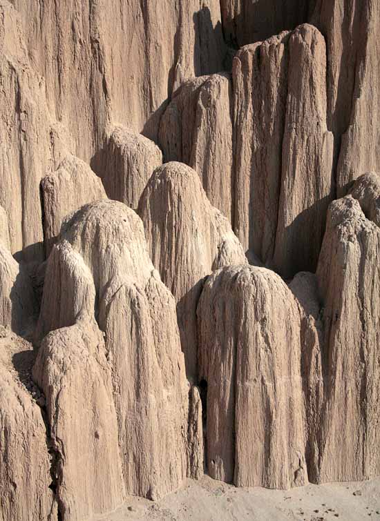
M187 374L194 378L196 306L203 279L221 266L247 259L226 217L211 206L198 174L182 163L155 170L137 212L153 264L177 302Z

